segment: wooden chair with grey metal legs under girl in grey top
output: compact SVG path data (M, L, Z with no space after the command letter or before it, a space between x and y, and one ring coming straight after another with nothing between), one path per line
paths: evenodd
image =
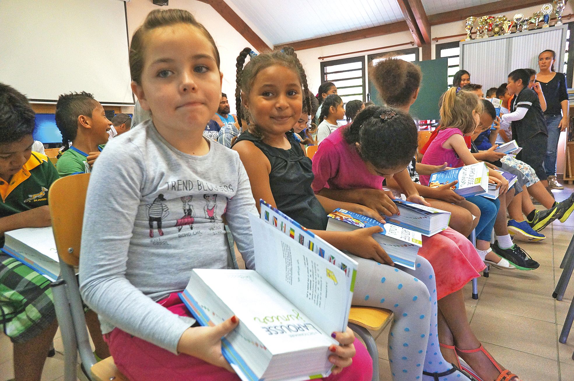
M76 381L78 352L82 369L91 381L127 381L115 367L112 357L96 363L76 279L88 180L89 173L63 177L52 184L48 193L54 239L60 257L60 277L52 283L52 291L64 344L64 381Z

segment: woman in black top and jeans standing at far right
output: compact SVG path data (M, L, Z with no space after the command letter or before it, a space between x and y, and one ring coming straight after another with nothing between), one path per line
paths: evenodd
M538 55L538 68L536 81L540 82L544 98L546 99L546 127L548 128L548 146L544 158L544 170L548 175L550 189L564 189L556 180L556 152L560 132L568 126L568 93L566 91L566 76L564 73L554 71L556 53L554 50L544 50Z

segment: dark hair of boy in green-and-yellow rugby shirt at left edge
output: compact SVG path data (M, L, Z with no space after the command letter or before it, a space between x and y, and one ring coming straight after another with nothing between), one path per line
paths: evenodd
M14 143L34 132L36 114L28 99L0 83L0 144Z

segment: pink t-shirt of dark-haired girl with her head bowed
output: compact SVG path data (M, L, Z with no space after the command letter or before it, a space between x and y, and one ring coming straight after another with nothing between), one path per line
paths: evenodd
M323 139L313 156L313 175L311 184L315 193L323 188L382 189L385 177L371 174L354 146L343 137L348 127L340 127Z

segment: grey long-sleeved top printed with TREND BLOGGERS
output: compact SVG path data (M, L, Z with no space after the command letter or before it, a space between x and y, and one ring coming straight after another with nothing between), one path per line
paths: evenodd
M185 289L194 268L224 269L226 217L247 268L254 267L249 214L257 214L239 155L215 142L184 154L152 120L111 140L92 170L80 256L80 292L115 327L176 353L193 324L158 305Z

